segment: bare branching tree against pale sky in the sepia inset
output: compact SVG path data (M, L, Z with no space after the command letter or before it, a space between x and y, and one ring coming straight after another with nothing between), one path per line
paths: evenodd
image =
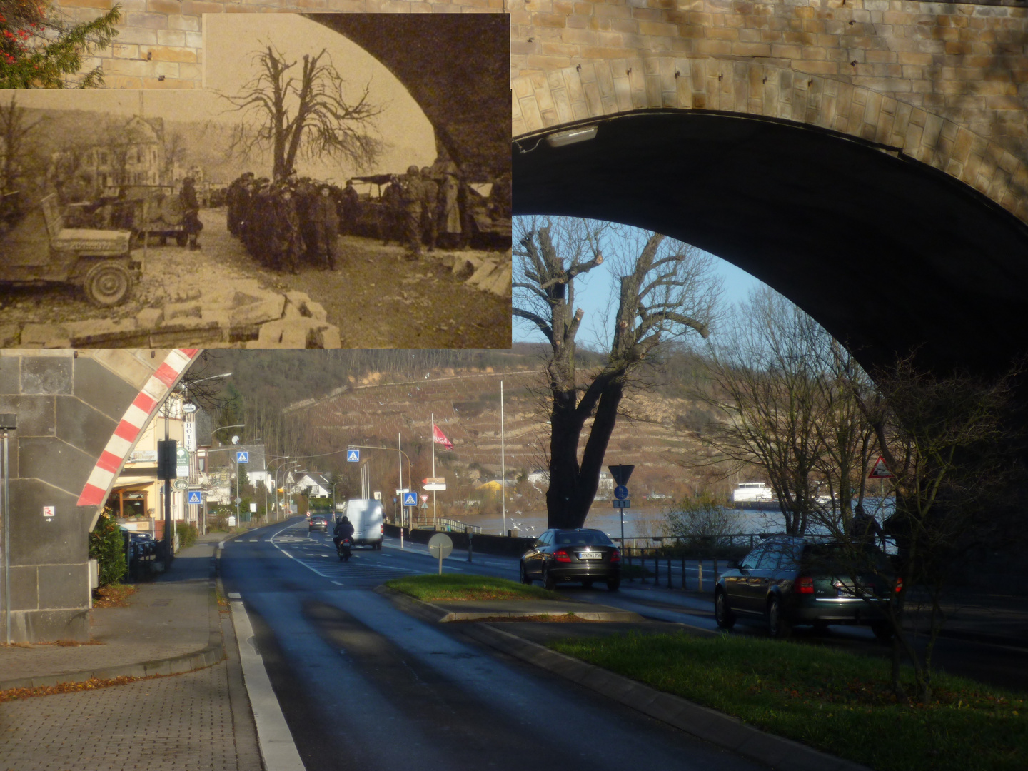
M297 62L270 43L254 52L258 75L238 95L221 95L242 113L233 149L247 157L255 149L270 150L276 179L294 168L297 157L328 156L366 169L381 142L371 135L382 108L369 99L370 83L351 101L347 85L323 48ZM295 74L295 76L294 76Z

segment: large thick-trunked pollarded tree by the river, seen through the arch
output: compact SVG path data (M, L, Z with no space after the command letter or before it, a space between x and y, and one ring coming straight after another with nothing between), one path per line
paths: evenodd
M659 233L588 220L519 219L516 241L523 281L514 284L514 315L550 343L548 521L551 527L581 527L629 379L663 342L691 331L707 335L720 283L709 258ZM580 381L576 337L584 311L575 308L575 281L603 264L603 249L615 250L619 268L617 313L607 362Z

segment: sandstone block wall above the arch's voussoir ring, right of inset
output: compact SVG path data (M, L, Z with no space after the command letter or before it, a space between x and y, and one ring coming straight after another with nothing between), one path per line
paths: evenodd
M626 63L656 58L764 65L917 108L1028 160L1021 0L511 0L510 12L512 80L600 63L629 77Z

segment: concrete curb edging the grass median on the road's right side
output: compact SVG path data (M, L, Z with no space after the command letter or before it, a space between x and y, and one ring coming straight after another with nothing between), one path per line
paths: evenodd
M376 587L374 591L389 596L401 610L411 615L428 621L441 620L439 613L443 609L437 605L421 602L383 586ZM872 771L867 766L836 758L792 739L765 733L736 718L556 653L489 624L469 625L463 627L462 632L490 648L573 681L655 720L750 760L775 768L787 766L792 771Z

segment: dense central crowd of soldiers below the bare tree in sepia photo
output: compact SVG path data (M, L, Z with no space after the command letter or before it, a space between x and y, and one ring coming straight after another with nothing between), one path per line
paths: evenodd
M340 220L352 221L357 191L338 188L295 172L272 182L247 172L228 187L228 231L265 267L298 273L306 263L338 270Z

